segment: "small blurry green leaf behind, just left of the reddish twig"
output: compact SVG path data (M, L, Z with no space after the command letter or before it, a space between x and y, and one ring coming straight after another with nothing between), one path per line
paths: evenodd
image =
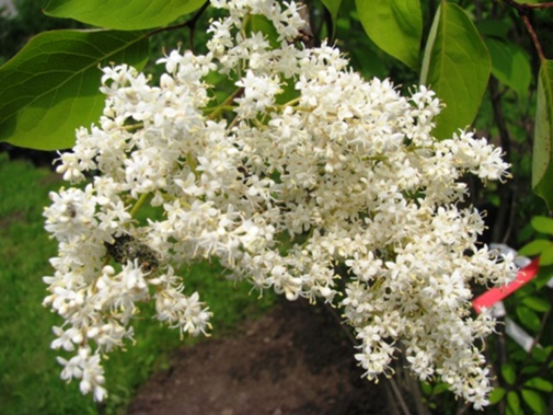
M484 42L491 56L491 74L519 97L525 98L532 82L532 68L527 53L515 44L493 37L485 37Z

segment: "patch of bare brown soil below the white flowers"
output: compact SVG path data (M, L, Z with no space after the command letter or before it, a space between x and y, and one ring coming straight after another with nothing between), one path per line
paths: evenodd
M361 378L354 353L332 313L285 302L234 337L178 351L129 414L387 414L384 388Z

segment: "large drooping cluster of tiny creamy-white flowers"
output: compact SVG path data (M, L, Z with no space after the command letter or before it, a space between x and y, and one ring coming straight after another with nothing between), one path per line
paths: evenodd
M104 68L104 115L61 156L67 181L93 174L45 211L59 254L44 304L64 318L52 347L75 351L59 358L62 378L102 400L101 356L132 339L139 302L153 300L181 333L205 333L211 313L176 273L216 258L261 292L341 307L369 379L390 374L402 350L421 380L486 405L475 342L494 322L471 317L469 283L505 284L514 266L477 244L484 224L460 207L460 179L503 178L500 149L465 131L435 140L432 91L404 97L363 80L337 48L306 48L294 3L212 4L229 17L211 24L209 53L172 51L159 86L130 66ZM248 30L255 15L278 39ZM236 87L220 104L205 81L216 71ZM138 223L144 203L162 219Z

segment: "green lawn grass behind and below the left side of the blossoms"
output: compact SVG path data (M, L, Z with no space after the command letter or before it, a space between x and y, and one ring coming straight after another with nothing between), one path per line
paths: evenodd
M151 304L142 308L135 322L135 340L126 351L111 353L106 367L109 398L96 405L82 396L78 382L59 378L61 367L50 349L57 315L41 306L50 275L48 258L56 254L56 243L44 231L42 210L48 192L62 185L56 174L30 163L8 161L0 154L0 414L120 414L135 390L152 371L169 365L169 353L183 344L178 332L160 326L151 318ZM67 187L67 185L66 185ZM187 270L186 292L198 290L214 312L214 335L232 331L246 316L260 315L274 302L261 302L249 295L249 286L235 288L225 280L221 268L199 264ZM67 356L65 356L67 357Z

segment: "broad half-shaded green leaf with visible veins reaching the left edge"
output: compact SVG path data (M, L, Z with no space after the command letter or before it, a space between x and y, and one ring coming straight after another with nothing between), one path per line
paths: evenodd
M105 97L98 66L142 68L140 33L56 30L41 33L0 68L0 140L33 149L73 146L75 129L98 120Z

